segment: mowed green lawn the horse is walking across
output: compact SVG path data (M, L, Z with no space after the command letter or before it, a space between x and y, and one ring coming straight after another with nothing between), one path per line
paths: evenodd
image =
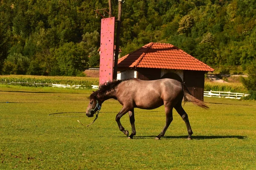
M193 140L176 111L155 140L164 108L135 109L137 135L127 139L115 122L116 100L103 103L93 125L77 122L93 121L82 113L91 92L0 85L0 169L256 169L255 101L205 97L208 111L186 103ZM128 114L121 122L131 131Z

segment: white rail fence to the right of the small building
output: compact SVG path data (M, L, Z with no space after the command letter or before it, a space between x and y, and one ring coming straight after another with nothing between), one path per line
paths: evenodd
M249 94L244 93L231 93L230 91L204 91L205 97L225 97L229 99L241 99L241 97L248 96Z

